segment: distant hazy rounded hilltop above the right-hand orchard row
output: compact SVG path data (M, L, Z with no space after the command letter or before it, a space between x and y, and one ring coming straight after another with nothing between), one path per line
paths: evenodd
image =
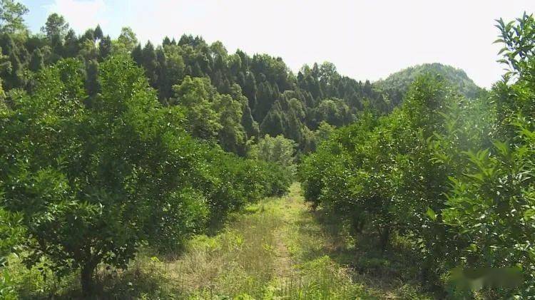
M419 76L432 74L444 78L467 98L477 98L484 89L477 86L462 69L445 66L441 63L424 63L422 65L405 68L393 73L384 80L374 83L377 90L382 90L394 105L402 102L404 95L409 90L414 80Z

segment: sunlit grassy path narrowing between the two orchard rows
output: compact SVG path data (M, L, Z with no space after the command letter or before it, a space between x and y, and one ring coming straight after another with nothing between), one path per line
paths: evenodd
M161 298L424 298L389 276L355 271L352 243L317 221L295 184L289 195L237 214L215 237L196 237L180 257L138 259L133 272L152 270L145 276L158 282Z

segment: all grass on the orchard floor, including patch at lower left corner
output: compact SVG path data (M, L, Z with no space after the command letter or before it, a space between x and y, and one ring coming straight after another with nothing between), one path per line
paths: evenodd
M426 298L411 284L392 284L396 277L391 274L363 273L367 268L383 270L387 261L359 257L358 241L343 234L335 219L322 220L318 215L305 206L300 186L292 185L286 197L248 207L230 217L218 234L195 237L179 254L161 256L145 249L126 271L99 267L101 289L95 298ZM35 269L19 273L17 280L26 281L24 289L32 291L21 295L79 296L76 280L53 278Z

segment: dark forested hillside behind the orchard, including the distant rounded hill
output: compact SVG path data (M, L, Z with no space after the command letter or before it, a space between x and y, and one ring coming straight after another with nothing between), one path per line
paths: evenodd
M469 95L480 90L464 72L438 64L394 74L379 83L379 89L370 81L340 75L332 63L303 66L295 74L282 58L249 56L240 50L228 53L223 43L207 43L199 36L165 38L158 46L151 42L143 46L129 28L115 40L100 26L78 35L57 14L49 16L40 33L29 33L22 23L17 26L0 35L4 90L31 92L32 74L61 58L78 58L85 67L87 93L94 98L101 91L100 64L108 56L128 55L144 68L161 103L188 112L184 125L191 135L218 142L239 155L247 153L248 141L266 134L295 140L301 152L313 150L322 122L328 130L326 123L337 127L352 123L365 107L389 112L414 77L431 68Z

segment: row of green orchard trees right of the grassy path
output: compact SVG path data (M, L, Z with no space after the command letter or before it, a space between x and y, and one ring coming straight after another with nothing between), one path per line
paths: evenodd
M535 296L535 20L497 25L510 71L489 98L420 76L300 168L308 201L379 248L408 241L420 279L454 299Z

